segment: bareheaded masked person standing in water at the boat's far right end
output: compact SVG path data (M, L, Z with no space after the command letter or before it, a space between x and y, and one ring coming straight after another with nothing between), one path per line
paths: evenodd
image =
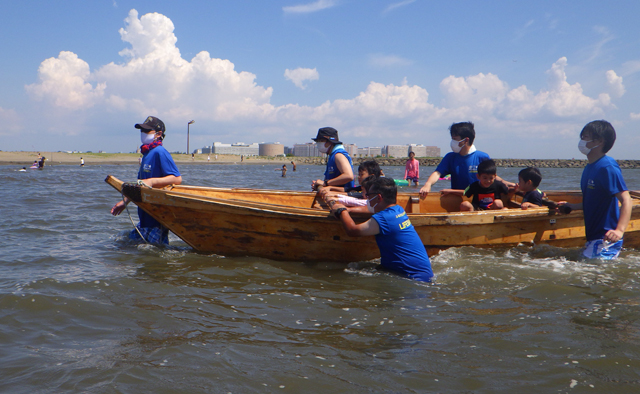
M584 126L578 143L578 150L588 161L580 180L582 203L560 203L571 210L583 211L587 243L582 253L587 258L610 260L618 257L631 219L629 189L620 166L606 154L615 141L616 131L605 120ZM563 212L562 209L558 211Z

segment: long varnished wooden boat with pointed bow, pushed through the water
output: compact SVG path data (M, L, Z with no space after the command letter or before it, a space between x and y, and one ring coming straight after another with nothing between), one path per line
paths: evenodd
M168 186L151 189L105 181L169 228L195 250L225 256L257 256L288 261L351 262L380 256L374 237L346 235L340 222L314 192ZM547 192L555 201L580 202L579 191ZM631 192L633 209L625 247L640 246L640 192ZM462 197L399 193L429 255L450 247L512 247L585 243L582 211L556 214L547 207L456 212ZM507 205L505 205L507 206ZM367 216L354 215L356 222Z

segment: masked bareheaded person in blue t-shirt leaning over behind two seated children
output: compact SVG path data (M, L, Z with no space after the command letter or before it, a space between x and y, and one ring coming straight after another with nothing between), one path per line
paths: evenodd
M451 152L447 153L436 170L431 173L429 179L420 189L420 196L426 197L431 191L431 186L440 178L451 175L451 189L464 190L477 180L478 164L489 160L488 154L476 149L473 142L476 138L476 131L471 122L454 123L449 127L451 134ZM508 187L515 184L504 181L496 177Z

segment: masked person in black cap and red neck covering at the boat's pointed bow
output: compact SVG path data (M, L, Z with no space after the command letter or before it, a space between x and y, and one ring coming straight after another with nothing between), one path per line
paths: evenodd
M182 176L176 167L171 154L162 146L165 136L164 123L155 116L149 116L144 123L134 126L140 130L140 140L142 146L142 159L138 170L138 179L152 188L163 188L169 185L179 185L182 183ZM125 197L111 208L111 214L119 215L124 211L129 199ZM137 230L133 229L129 233L129 238L140 239L140 235L149 243L169 243L169 230L163 227L151 215L138 208Z

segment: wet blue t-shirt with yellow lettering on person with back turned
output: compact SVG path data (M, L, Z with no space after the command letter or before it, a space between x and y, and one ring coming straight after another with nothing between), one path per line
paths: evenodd
M376 242L382 266L411 279L431 281L433 271L429 256L404 209L394 205L372 218L380 227Z

